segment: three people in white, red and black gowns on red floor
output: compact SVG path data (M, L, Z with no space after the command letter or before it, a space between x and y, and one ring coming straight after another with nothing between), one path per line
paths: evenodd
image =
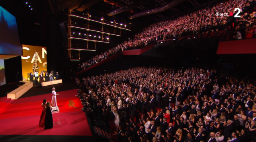
M52 116L52 107L56 107L57 106L57 100L56 100L56 94L55 92L55 88L52 89L53 92L53 97L50 102L47 102L46 99L43 100L43 103L41 104L41 106L43 107L40 119L39 119L39 125L37 125L36 129L41 129L44 127L44 129L52 129L53 128L53 116Z

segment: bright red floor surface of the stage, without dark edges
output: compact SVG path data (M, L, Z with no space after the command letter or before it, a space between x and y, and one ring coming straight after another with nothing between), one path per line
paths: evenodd
M1 135L70 135L92 136L83 107L76 95L76 89L57 92L57 104L60 110L61 125L54 125L53 129L36 130L42 107L46 98L51 102L51 94L44 94L18 100L0 98L0 134ZM75 102L75 107L69 107L69 100Z

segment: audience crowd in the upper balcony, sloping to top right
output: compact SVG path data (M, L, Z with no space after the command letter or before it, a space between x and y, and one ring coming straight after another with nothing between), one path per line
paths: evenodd
M154 23L144 28L128 41L118 44L114 48L82 63L79 65L78 70L86 69L119 51L143 48L157 40L224 31L234 21L236 21L235 23L237 23L238 27L231 37L235 39L251 38L256 32L255 5L255 0L228 0L213 6L213 8L205 8L175 20ZM215 15L216 13L234 13L235 8L240 8L241 12L239 15L242 14L241 18L235 19L231 16Z

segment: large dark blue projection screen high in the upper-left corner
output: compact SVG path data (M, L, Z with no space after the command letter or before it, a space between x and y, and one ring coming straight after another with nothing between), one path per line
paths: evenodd
M16 18L0 6L0 55L22 55Z

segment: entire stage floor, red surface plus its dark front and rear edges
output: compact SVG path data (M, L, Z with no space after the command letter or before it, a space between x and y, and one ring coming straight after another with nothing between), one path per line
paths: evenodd
M69 88L75 86L68 83ZM0 97L0 141L1 142L40 142L40 141L92 141L92 133L87 117L77 94L77 89L66 90L67 83L32 88L18 100ZM71 87L70 87L71 85ZM51 88L55 87L57 104L60 110L61 125L54 125L53 129L39 129L43 99L51 102ZM45 92L48 92L47 94ZM45 94L42 94L45 93ZM70 101L74 102L70 106Z

